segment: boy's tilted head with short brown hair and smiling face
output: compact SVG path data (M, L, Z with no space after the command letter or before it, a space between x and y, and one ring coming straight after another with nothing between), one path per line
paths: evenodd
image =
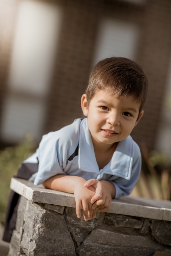
M114 145L131 134L143 116L146 93L147 78L134 61L112 57L97 63L81 97L94 146Z

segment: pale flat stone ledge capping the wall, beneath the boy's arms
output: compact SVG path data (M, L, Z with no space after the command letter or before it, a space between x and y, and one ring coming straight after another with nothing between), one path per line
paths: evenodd
M35 203L53 204L75 208L73 194L63 193L32 182L12 178L10 188L29 201ZM171 221L171 202L144 198L122 197L113 199L108 212L127 216L136 216L155 220Z

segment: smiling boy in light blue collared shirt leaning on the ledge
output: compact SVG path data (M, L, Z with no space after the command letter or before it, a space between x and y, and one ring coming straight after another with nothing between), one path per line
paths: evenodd
M76 119L42 137L34 184L73 193L76 214L84 220L107 211L112 198L129 195L141 170L138 145L130 134L143 116L147 79L126 58L107 58L93 69L81 107L87 118ZM33 179L32 179L33 180Z

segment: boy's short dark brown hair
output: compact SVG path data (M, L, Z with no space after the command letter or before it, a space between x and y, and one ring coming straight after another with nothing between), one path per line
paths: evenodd
M133 60L112 57L97 63L86 89L88 106L97 90L104 90L119 97L133 95L140 102L140 111L145 103L148 89L147 78Z

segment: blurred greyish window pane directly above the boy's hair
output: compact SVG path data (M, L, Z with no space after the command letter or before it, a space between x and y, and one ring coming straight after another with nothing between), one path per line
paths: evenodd
M128 21L106 18L99 27L94 65L108 57L136 59L139 27Z

